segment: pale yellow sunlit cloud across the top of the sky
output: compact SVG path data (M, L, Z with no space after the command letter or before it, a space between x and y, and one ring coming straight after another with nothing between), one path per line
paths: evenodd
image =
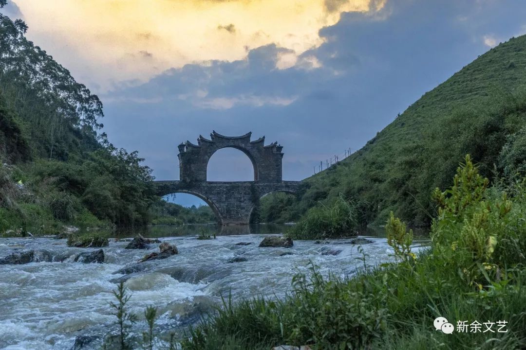
M100 90L171 67L237 60L275 43L300 55L342 12L383 7L373 0L15 0L28 36L75 77ZM277 68L296 64L292 54Z

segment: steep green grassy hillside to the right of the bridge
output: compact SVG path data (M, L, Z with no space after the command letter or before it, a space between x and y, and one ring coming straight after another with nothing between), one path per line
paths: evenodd
M392 210L429 225L433 188L445 188L465 154L482 175L517 171L526 161L526 36L489 50L418 101L346 160L306 180L284 220L319 201L365 201L367 223ZM267 201L284 203L272 197ZM268 203L267 203L268 206ZM260 213L262 220L265 213Z

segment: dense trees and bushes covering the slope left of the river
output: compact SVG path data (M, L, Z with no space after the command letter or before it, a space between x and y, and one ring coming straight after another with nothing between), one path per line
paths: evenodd
M97 135L98 97L26 29L0 14L0 234L146 224L151 170Z

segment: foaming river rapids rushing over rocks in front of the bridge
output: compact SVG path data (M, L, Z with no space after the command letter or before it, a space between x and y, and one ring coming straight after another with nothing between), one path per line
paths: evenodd
M184 228L157 227L143 232L148 237L175 244L179 254L165 260L137 264L148 251L124 249L127 241L112 240L103 248L103 264L79 262L32 262L0 266L0 349L72 349L77 336L93 341L83 349L99 348L99 339L112 330L114 316L109 302L120 280L131 292L130 309L140 316L147 305L158 307L157 332L177 332L195 323L199 316L231 293L232 299L266 295L279 298L290 290L292 276L307 272L309 261L328 275L352 275L366 263L373 266L389 259L392 250L381 232L364 232L372 243L363 253L349 239L329 244L295 241L292 248L258 248L268 234L279 234L283 227L262 225L252 229L232 229L215 240L197 240L209 226ZM119 238L133 232L119 232ZM362 236L361 236L362 237ZM426 238L415 240L415 247ZM249 242L250 245L236 245ZM34 249L58 259L95 248L69 248L65 239L1 238L0 258L13 252ZM98 249L98 248L97 248ZM323 254L327 251L336 255ZM282 253L292 254L281 256ZM247 261L229 263L235 257ZM358 259L360 258L360 259ZM115 273L116 271L120 273ZM144 329L144 321L136 327Z

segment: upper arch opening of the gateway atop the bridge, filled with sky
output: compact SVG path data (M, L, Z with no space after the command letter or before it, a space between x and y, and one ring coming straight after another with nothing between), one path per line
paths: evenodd
M210 182L257 181L258 168L251 155L236 147L214 152L207 163L206 180Z

